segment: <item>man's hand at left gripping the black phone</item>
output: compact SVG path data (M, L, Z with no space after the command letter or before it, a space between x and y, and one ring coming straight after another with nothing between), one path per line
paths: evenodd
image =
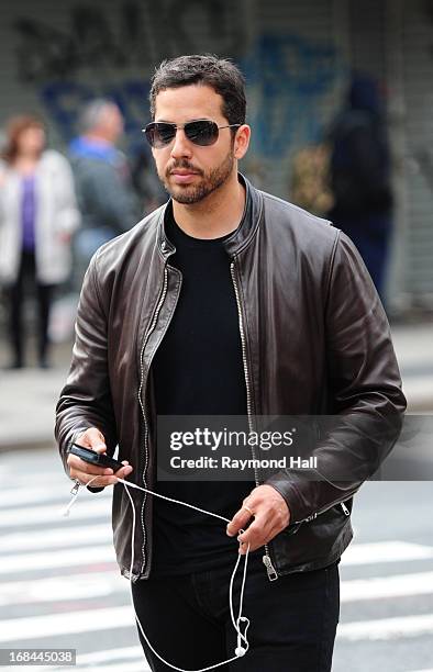
M91 448L96 452L107 452L106 439L97 427L86 429L84 434L80 434L80 436L76 438L75 443L85 448ZM70 478L77 479L84 485L97 475L98 478L91 482L91 488L114 485L114 483L118 482L118 478L125 479L132 472L132 467L126 460L122 461L124 467L116 471L115 475L112 469L89 464L77 455L68 455L67 464L69 467Z

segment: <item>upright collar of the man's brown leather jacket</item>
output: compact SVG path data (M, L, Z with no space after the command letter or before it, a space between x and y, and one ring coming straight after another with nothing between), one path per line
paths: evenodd
M246 198L241 224L236 231L234 231L233 234L224 240L225 250L231 258L235 257L249 245L258 228L263 213L262 192L255 189L249 180L247 180L241 172L238 172L237 176L240 182L242 182L245 187ZM171 199L157 211L157 247L164 259L167 259L176 251L175 246L167 238L165 233L164 222L169 212L173 212Z

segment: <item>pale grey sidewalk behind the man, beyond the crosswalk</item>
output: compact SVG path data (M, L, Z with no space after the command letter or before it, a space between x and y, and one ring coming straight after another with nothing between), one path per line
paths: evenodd
M433 413L433 323L392 328L411 413ZM55 405L70 359L70 344L55 346L54 367L0 372L0 450L54 446ZM0 366L5 362L0 345Z

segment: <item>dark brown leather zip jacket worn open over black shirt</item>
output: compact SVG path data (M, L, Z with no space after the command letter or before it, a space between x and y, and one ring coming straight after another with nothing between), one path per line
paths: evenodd
M296 470L267 474L293 523L266 546L273 579L340 558L353 536L352 495L392 448L406 400L386 315L349 239L240 179L245 213L224 245L240 312L248 415L253 422L255 415L337 414L342 426L318 448L321 464L329 474L340 462L353 472L335 484ZM108 451L119 444L119 459L133 464L132 481L151 489L155 482L152 360L182 282L169 264L175 248L165 235L166 208L100 248L87 271L71 368L57 404L56 438L67 473L68 445L96 426ZM152 567L152 495L131 492L135 581ZM132 515L122 484L114 486L113 531L129 576Z

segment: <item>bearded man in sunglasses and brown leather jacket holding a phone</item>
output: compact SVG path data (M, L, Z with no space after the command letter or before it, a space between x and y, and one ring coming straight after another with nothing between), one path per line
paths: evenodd
M56 436L81 483L129 477L231 520L224 530L138 490L133 519L125 488L114 488L118 561L163 659L192 670L233 657L227 586L236 549L249 548L249 650L236 670L329 671L352 495L392 447L393 432L376 437L398 426L404 396L348 238L238 173L245 108L227 60L182 56L156 70L145 134L170 200L90 264ZM158 415L246 416L252 427L257 415L325 413L347 419L320 451L327 473L342 461L353 474L343 483L290 470L255 482L156 480ZM124 466L116 475L89 466L67 453L71 441L109 455L119 445ZM168 670L140 637L152 670Z

